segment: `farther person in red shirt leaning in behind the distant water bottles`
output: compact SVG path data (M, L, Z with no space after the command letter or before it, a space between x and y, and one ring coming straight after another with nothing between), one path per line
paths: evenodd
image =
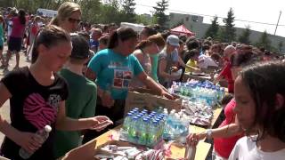
M233 93L233 80L232 80L232 72L231 72L231 63L230 59L232 54L236 52L235 48L232 45L228 45L224 49L224 60L226 60L223 70L220 72L216 79L214 80L214 84L218 83L220 80L225 78L228 82L228 92Z

